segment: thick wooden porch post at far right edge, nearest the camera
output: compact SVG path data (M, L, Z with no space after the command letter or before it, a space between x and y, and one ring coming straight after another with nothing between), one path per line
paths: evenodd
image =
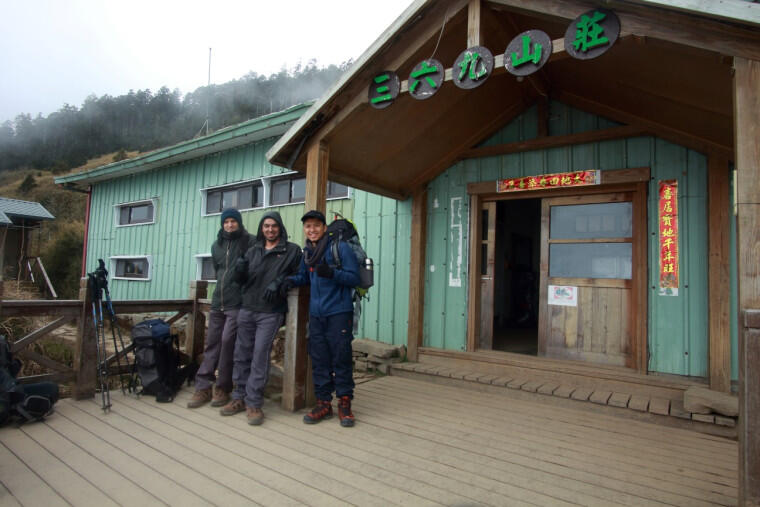
M760 505L760 62L734 58L739 311L739 505Z

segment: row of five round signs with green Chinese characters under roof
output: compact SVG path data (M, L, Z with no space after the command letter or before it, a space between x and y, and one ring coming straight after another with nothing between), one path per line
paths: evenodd
M594 9L578 16L565 32L565 51L579 60L597 58L609 50L620 35L620 20L614 12ZM504 52L504 67L519 78L543 67L551 57L553 43L541 30L519 34ZM451 68L454 84L466 90L481 86L494 70L494 57L483 46L462 51ZM409 95L418 100L432 97L443 84L446 69L432 57L415 65L409 74ZM369 103L376 109L390 106L398 97L401 82L392 71L378 73L369 85Z

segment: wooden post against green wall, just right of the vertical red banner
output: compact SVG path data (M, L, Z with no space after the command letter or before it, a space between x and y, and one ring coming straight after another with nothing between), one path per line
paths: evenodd
M731 392L728 160L708 159L710 389Z

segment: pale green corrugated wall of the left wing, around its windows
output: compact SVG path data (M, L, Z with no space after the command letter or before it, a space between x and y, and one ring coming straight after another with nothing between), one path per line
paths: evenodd
M285 172L269 164L266 151L276 139L267 139L222 153L94 185L87 269L97 259L117 255L151 255L150 281L112 280L114 299L171 299L187 297L196 276L197 254L210 252L219 230L219 215L201 216L201 188L234 183ZM158 198L156 222L115 227L113 205ZM300 218L303 204L277 206L291 241L303 244ZM330 212L353 217L350 199L327 202ZM243 212L245 227L255 233L267 210ZM110 269L110 268L109 268ZM212 289L212 288L210 288ZM209 291L209 294L211 292Z

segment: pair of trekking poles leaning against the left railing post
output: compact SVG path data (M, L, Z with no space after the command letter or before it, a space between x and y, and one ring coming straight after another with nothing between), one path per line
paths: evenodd
M121 357L124 356L126 361L127 371L132 371L132 366L127 356L127 349L124 346L124 340L121 336L121 329L118 326L118 320L116 319L116 313L113 310L113 304L111 302L111 294L108 291L108 270L106 270L106 264L103 259L98 259L98 268L92 273L87 273L87 283L92 291L92 321L95 327L95 351L97 354L97 374L98 382L100 383L100 400L101 408L103 412L108 412L111 409L111 391L108 382L109 376L109 363L116 359L118 366L119 381L121 383L121 392L126 394L127 392L134 391L134 383L130 375L130 380L126 383L124 381L124 375L121 369ZM111 338L113 340L114 355L108 356L106 350L107 338L105 330L105 321L103 319L103 295L105 294L105 307L108 316L111 321Z

